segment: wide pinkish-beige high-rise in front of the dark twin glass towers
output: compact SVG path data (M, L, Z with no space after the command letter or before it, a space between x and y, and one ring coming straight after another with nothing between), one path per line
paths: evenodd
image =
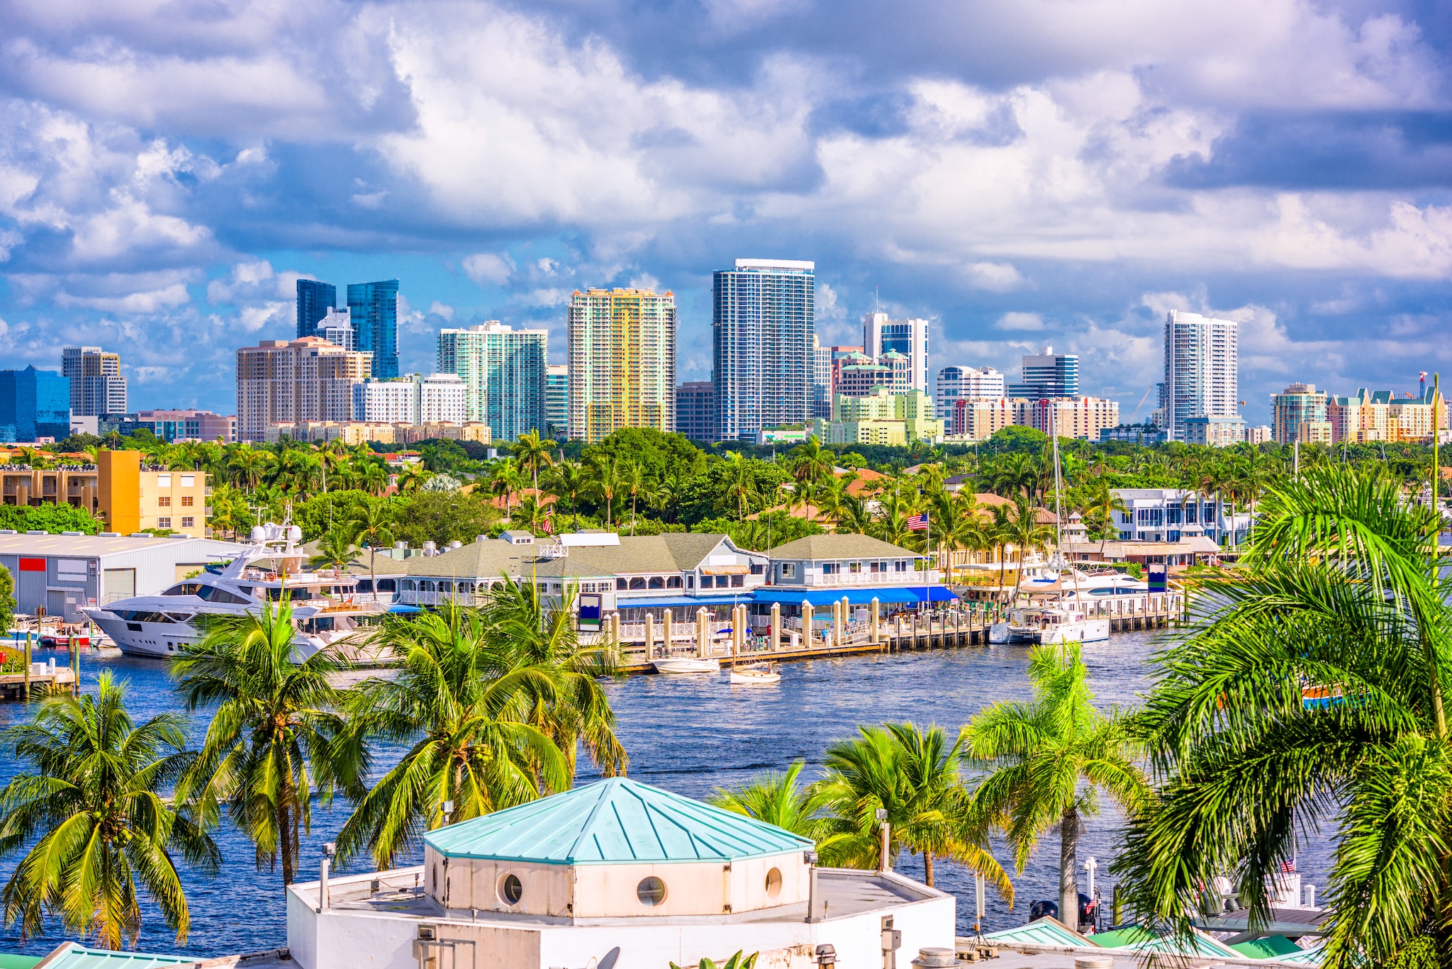
M269 424L353 420L353 385L370 356L321 337L263 340L237 352L237 437L266 440Z

